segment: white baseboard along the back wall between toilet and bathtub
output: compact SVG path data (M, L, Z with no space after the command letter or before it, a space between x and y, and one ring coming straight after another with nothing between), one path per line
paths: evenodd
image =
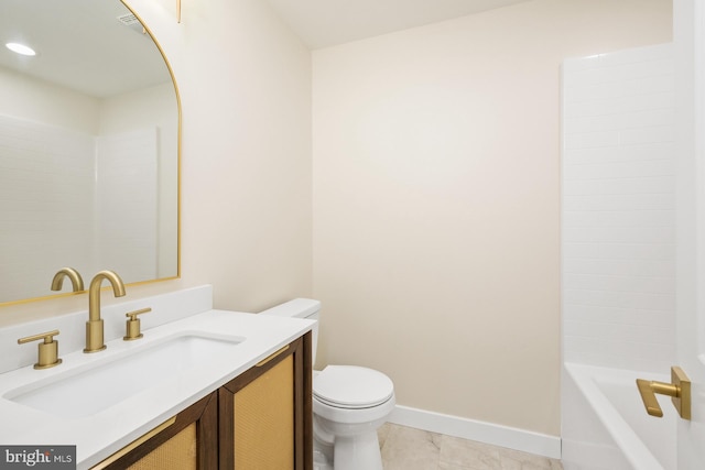
M561 458L561 438L556 436L400 405L397 405L388 422L552 459Z

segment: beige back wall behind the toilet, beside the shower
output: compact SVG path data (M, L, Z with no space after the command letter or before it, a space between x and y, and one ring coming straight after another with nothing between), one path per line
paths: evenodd
M535 0L314 52L318 365L558 435L560 64L670 41L666 0Z

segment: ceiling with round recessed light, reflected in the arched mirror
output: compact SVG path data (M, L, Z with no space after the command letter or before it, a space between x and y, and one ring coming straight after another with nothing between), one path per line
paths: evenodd
M171 80L142 25L118 17L117 0L1 0L0 68L104 98ZM32 46L34 57L14 54L8 42Z

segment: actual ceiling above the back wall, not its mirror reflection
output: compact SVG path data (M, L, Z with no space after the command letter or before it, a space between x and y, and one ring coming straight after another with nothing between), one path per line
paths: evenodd
M322 48L527 0L268 0L311 48Z

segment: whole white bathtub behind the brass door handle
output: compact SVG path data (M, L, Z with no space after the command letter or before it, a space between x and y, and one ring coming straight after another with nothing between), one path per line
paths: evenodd
M659 396L664 416L649 416L636 384L670 376L575 363L562 375L565 470L675 470L675 409Z

